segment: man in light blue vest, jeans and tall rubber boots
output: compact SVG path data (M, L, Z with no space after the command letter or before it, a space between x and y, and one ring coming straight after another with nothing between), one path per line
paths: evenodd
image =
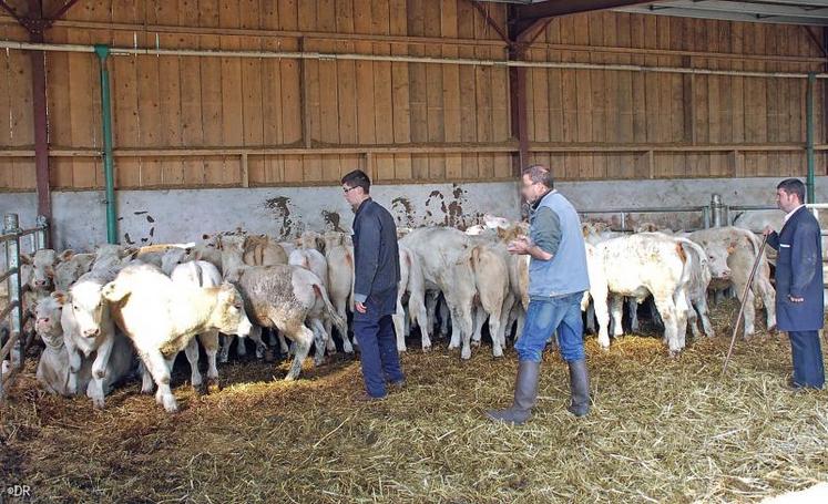
M575 208L553 186L549 168L534 165L522 174L521 192L532 205L530 236L509 244L511 254L531 256L529 309L523 332L514 344L518 379L511 408L487 411L493 421L525 423L538 398L543 348L558 331L561 357L570 368L571 403L575 416L590 411L590 382L583 343L581 299L590 288L586 247Z

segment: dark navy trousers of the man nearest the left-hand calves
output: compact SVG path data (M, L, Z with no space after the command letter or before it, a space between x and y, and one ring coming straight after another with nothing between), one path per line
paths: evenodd
M368 305L367 313L355 315L354 333L359 343L365 388L369 395L381 398L386 394L386 381L397 383L405 376L400 369L391 316L371 317L371 308Z

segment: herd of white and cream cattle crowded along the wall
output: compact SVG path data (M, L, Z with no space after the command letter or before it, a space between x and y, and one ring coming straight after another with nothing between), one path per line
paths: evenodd
M610 346L621 336L623 306L630 304L637 330L637 304L652 297L671 356L685 346L687 325L694 336L714 336L708 292L733 288L743 296L759 251L759 240L738 227L672 233L645 226L635 234L585 223L591 288L582 308L587 327L597 320L597 339ZM466 230L450 227L399 229L400 271L397 313L399 350L419 327L421 348L431 347L437 327L450 332L450 349L471 357L487 323L492 353L503 354L507 337L517 335L529 304L528 256L512 256L507 244L528 232L525 223L487 216ZM256 357L277 344L293 354L286 379L296 379L315 347L314 363L336 352L334 330L345 352L352 352L347 312L351 309L354 249L339 232L306 232L294 241L242 232L201 244L141 248L104 245L94 253L38 250L23 257L24 309L44 343L37 378L49 392L84 393L98 408L125 378L140 373L142 392L152 393L166 411L177 410L170 373L182 350L191 364L191 383L204 390L218 379L234 341L256 344ZM755 331L760 301L767 327L775 326L774 288L768 259L747 290L745 337ZM699 329L699 323L702 329ZM262 329L269 338L262 338ZM290 341L290 347L287 344ZM265 342L267 340L267 343ZM198 370L200 346L207 357L207 379Z

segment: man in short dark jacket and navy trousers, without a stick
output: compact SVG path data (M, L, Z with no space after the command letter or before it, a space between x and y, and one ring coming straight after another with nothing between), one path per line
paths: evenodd
M366 400L384 399L386 382L401 387L391 315L397 309L400 260L393 217L370 197L371 181L356 169L343 177L354 217L354 333L359 344Z

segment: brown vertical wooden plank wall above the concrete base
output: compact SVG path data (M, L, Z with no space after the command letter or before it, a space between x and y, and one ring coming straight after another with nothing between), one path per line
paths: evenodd
M488 9L503 25L504 6ZM49 42L113 47L507 53L467 0L81 0L47 33ZM0 38L27 34L0 17ZM599 12L553 20L529 58L804 72L822 70L820 54L803 27ZM45 58L51 184L101 187L96 59ZM122 55L110 69L120 188L335 184L355 167L385 183L513 173L504 68ZM559 178L805 171L804 80L533 69L527 91L532 158ZM822 144L821 81L816 95ZM31 189L30 63L21 51L0 53L0 189ZM821 151L818 162L825 173Z

